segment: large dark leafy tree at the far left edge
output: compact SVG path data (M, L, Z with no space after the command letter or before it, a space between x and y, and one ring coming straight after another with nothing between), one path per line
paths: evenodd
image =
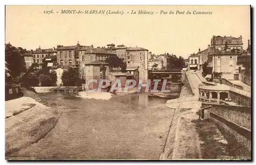
M24 56L14 46L8 44L5 46L5 60L13 78L26 71Z

